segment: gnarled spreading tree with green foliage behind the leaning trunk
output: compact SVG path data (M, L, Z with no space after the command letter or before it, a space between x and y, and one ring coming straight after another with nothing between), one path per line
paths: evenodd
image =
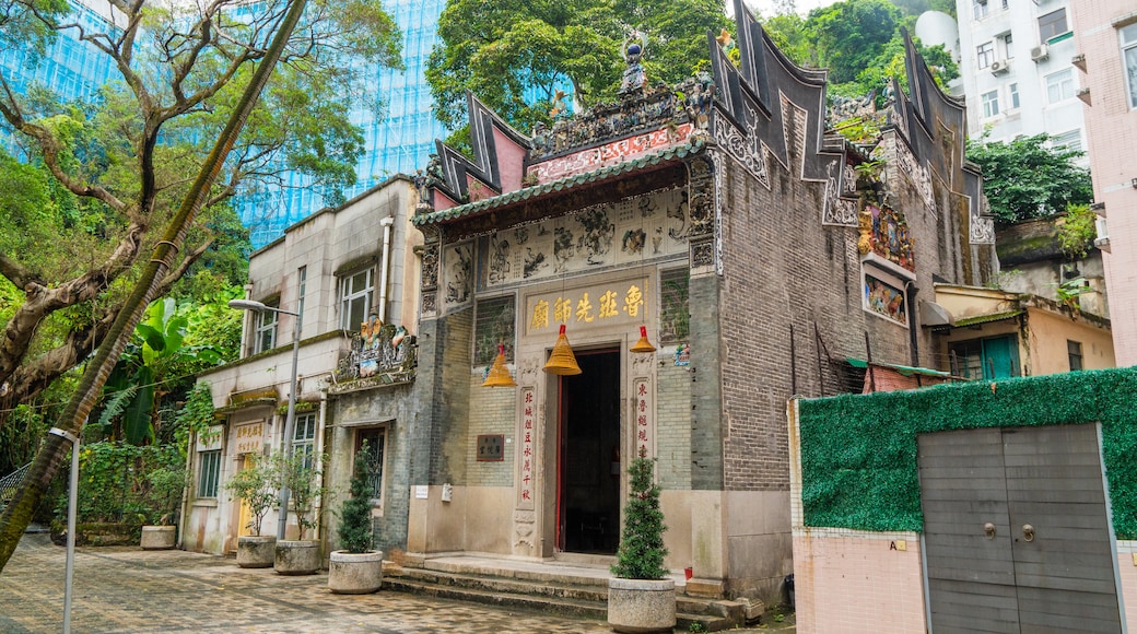
M65 1L0 0L0 45L42 51L67 34L117 70L77 103L17 93L0 73L0 126L22 148L22 160L0 153L2 191L20 192L0 201L0 427L103 340L289 2L197 5L115 0L115 26L100 32L72 22ZM243 187L291 169L334 200L354 182L363 140L349 115L375 97L360 73L398 52L380 0L313 0L158 294L202 258L236 272L247 251L226 201Z

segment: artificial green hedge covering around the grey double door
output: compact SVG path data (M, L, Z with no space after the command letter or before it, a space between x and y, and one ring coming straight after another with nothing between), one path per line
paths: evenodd
M923 531L916 435L1102 423L1113 528L1137 539L1137 368L803 400L806 526Z

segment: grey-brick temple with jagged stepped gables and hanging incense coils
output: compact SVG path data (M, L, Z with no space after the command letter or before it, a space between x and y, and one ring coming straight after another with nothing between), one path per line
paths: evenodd
M852 143L825 72L735 15L737 66L708 36L712 74L657 85L631 37L619 102L526 136L471 95L473 158L439 144L412 219L430 407L407 540L384 544L406 565L612 554L644 454L686 592L777 598L787 400L861 392L866 366L949 369L933 280L997 267L962 102L908 42L883 132Z

